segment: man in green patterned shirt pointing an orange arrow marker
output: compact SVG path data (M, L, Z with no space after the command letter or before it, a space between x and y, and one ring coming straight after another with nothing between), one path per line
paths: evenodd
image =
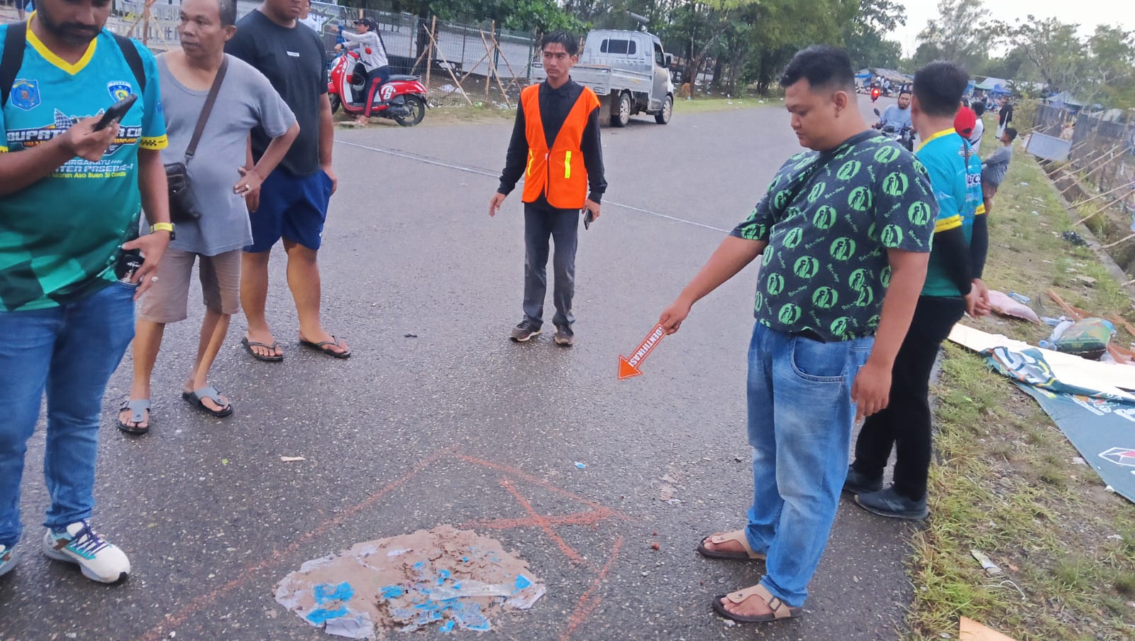
M659 323L762 258L749 349L753 507L743 530L707 536L709 558L765 559L760 583L717 597L740 622L799 616L827 544L851 426L888 403L891 367L926 277L938 203L926 169L872 131L847 53L809 47L781 85L790 158Z

